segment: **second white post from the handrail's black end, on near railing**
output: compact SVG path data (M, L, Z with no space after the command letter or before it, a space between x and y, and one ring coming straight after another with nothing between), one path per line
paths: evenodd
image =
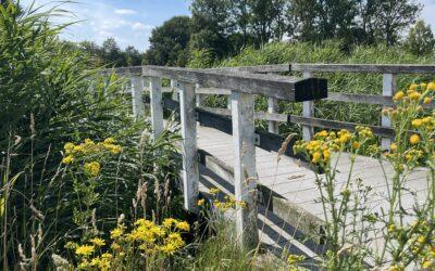
M195 111L195 85L181 82L179 111L183 136L183 189L184 206L198 211L199 171L197 158L197 120Z

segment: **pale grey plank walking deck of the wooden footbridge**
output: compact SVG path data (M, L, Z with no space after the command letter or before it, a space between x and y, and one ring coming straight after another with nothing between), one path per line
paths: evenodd
M221 132L213 128L198 126L198 147L204 150L216 159L221 160L227 167L233 168L234 165L234 143L231 134ZM288 156L281 157L275 152L264 151L260 147L256 149L256 162L259 182L268 186L270 190L276 192L285 197L293 206L297 206L307 215L313 216L319 221L324 221L322 205L319 203L319 192L315 186L315 173L301 163ZM337 169L337 185L336 193L341 191L341 186L347 180L350 170L349 154L344 153L339 157L333 156L333 162L338 159ZM385 172L385 173L384 173ZM360 178L364 185L370 185L372 196L369 203L369 208L373 212L381 212L381 208L388 209L387 201L385 199L388 193L388 182L385 176L391 177L394 172L390 165L384 163L384 170L377 159L364 156L358 156L353 166L352 180ZM340 185L341 184L341 185ZM427 198L426 170L419 168L410 173L407 189L415 192L419 201ZM403 208L410 209L414 203L414 197L408 193L403 201ZM412 218L409 218L412 219ZM296 223L303 223L300 220ZM289 221L287 221L289 222ZM293 224L294 228L303 224ZM375 238L381 236L374 236ZM375 245L375 244L373 244Z

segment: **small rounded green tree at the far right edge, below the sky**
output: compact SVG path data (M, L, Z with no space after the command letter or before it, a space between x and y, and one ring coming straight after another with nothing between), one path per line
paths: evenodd
M410 29L405 48L415 54L424 55L434 52L435 39L430 25L419 20Z

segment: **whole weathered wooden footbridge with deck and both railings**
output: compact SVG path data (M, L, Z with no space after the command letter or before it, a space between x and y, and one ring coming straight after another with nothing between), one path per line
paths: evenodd
M302 73L302 78L277 75L293 72ZM324 221L321 204L316 201L315 175L303 160L293 155L293 141L285 142L278 134L278 122L301 125L306 140L311 139L315 127L352 130L358 124L315 118L313 101L327 99L393 106L398 74L435 74L435 66L282 64L214 69L140 66L105 73L130 79L133 113L137 117L146 117L144 95L150 93L154 138L159 137L165 122L169 124L163 119L163 109L179 113L186 209L197 211L199 194L207 195L210 188L217 186L224 193L234 194L236 201L247 203L247 208L236 209L240 241L257 244L260 238L272 246L315 258L322 253ZM327 81L315 78L315 73L383 74L382 95L328 92ZM171 81L170 87L162 87L163 78ZM164 92L172 93L172 98L163 95ZM210 94L227 95L227 108L204 107L203 99ZM254 95L268 98L268 112L254 112ZM279 114L278 100L302 102L302 116ZM387 149L394 131L387 117L380 118L380 126L371 128L382 137L382 145ZM269 121L269 131L256 129L256 119ZM283 143L288 146L282 147ZM350 170L349 155L333 159L338 159L337 182L344 183ZM362 179L376 192L376 198L370 203L374 211L387 208L382 199L388 185L385 177L393 168L386 164L384 170L376 159L363 156L357 158L353 168L355 178ZM424 168L415 170L409 179L410 199L405 208L411 208L413 204L411 192L424 201L427 190Z

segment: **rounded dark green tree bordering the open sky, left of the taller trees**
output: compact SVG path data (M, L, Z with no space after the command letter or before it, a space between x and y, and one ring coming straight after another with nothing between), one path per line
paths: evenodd
M186 49L190 39L190 18L174 16L152 30L146 62L152 65L185 66Z

